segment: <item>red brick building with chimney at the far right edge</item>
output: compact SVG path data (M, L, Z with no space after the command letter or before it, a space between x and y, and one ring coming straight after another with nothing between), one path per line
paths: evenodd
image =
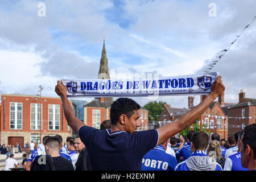
M238 104L228 109L229 132L228 137L244 129L245 126L256 123L256 99L246 98L245 92L239 93Z

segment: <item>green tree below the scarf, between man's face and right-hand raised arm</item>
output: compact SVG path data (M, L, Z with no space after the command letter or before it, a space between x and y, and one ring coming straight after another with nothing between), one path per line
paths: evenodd
M155 121L158 121L159 115L161 114L163 110L163 105L166 104L166 102L163 101L150 101L143 107L148 110L148 121L152 121L152 119L155 119ZM152 115L152 117L150 117Z

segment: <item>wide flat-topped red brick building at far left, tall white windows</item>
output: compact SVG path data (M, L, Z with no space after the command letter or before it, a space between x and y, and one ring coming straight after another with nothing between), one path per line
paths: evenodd
M72 135L60 98L2 94L0 110L1 144L24 146L31 140L39 143L45 135L61 135L63 140Z

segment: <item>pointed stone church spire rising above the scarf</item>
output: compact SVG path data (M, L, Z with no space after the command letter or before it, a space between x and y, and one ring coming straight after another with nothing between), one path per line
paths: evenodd
M101 53L100 70L98 71L98 79L109 79L108 59L106 58L105 39L103 40L103 48Z

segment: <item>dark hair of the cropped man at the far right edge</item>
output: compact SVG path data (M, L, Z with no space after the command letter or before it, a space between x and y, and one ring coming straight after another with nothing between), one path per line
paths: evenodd
M243 150L245 150L248 144L253 149L253 155L256 159L256 124L251 124L245 127L243 130Z

